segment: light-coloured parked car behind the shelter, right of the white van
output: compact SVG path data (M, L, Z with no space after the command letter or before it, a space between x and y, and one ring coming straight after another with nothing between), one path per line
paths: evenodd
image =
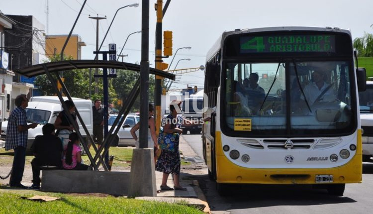
M108 118L108 129L110 130L113 125L116 117L118 115L111 114ZM119 120L120 121L120 120ZM122 127L120 127L118 133L116 134L114 141L111 143L111 146L135 146L135 140L131 135L131 128L140 121L140 116L136 114L128 114ZM117 127L117 126L116 126ZM115 129L114 129L115 131ZM136 135L139 136L139 131L136 131Z

